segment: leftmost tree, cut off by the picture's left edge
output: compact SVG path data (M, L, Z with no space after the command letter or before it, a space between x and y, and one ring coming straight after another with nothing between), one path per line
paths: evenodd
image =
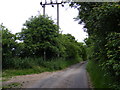
M2 28L2 53L3 60L13 57L16 49L16 36L12 34L8 29L1 25Z

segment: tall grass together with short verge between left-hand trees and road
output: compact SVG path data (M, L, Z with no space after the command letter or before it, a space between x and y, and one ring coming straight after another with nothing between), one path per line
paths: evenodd
M14 58L11 59L10 68L3 70L3 77L41 73L64 69L82 59L65 60L63 58L43 60L42 58Z

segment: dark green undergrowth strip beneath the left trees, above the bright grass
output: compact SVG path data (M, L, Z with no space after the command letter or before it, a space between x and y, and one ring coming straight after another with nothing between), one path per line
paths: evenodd
M42 58L12 58L3 61L3 69L27 69L39 66L43 63Z

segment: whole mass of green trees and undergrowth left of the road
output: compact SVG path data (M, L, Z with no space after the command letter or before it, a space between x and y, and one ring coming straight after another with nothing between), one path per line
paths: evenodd
M58 26L48 16L29 18L22 31L16 34L12 34L3 25L1 27L3 69L42 66L57 70L64 67L57 62L78 62L81 58L86 60L84 44L77 42L71 34L60 34Z

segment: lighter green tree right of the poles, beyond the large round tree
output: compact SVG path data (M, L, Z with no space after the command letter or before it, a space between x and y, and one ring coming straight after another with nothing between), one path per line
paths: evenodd
M74 60L82 58L85 59L85 49L82 43L75 40L75 37L71 34L63 34L60 38L62 48L64 50L63 55L67 60Z

